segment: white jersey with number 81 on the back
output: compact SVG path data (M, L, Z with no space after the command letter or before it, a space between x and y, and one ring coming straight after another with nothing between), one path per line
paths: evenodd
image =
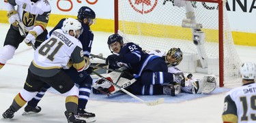
M29 69L36 75L51 76L58 69L66 67L72 60L74 68L83 71L85 59L83 58L82 44L79 39L66 35L61 29L53 31L51 37L44 41L34 52L34 58Z

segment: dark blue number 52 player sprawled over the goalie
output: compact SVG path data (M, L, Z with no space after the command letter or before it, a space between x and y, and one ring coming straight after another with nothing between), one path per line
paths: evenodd
M167 94L174 96L174 93L171 93L174 89L173 84L184 81L184 77L168 73L165 60L160 56L143 52L141 47L135 43L124 43L123 37L118 34L110 35L107 43L113 54L106 58L106 63L112 69L128 68L134 74L134 79L137 80L134 84L145 88L143 92L132 90L135 94L151 94L149 90L152 85L157 87L161 84L166 84L167 88L169 88Z

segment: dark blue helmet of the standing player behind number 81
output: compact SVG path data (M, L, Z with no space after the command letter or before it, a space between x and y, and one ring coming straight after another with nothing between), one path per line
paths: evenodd
M96 18L96 14L94 12L94 10L91 10L91 8L87 7L87 6L83 6L79 9L79 12L77 14L77 18L79 20L83 20L85 18L92 18L95 19Z

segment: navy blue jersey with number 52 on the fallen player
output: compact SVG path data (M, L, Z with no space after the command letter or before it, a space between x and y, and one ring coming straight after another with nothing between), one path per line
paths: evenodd
M141 47L131 42L124 43L119 54L122 56L122 62L130 66L135 78L140 77L141 72L149 68L147 65L150 64L154 58L159 57L143 52Z

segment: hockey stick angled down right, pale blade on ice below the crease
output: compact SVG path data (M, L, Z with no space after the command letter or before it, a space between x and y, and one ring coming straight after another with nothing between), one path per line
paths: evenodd
M113 82L110 82L109 80L106 79L106 77L103 77L102 75L100 75L96 71L93 71L93 73L98 75L99 77L102 77L102 79L105 80L106 82L109 82L111 85L119 88L120 90L122 90L123 92L128 94L129 96L132 96L134 99L137 99L138 101L141 101L141 103L144 103L145 105L153 106L153 105L158 105L158 104L164 103L164 101L165 101L165 99L163 99L163 98L160 98L160 99L158 99L156 101L150 101L150 102L144 101L143 99L140 99L138 96L135 96L134 94L128 92L127 90L125 90L124 88L118 86L117 84L115 84Z

